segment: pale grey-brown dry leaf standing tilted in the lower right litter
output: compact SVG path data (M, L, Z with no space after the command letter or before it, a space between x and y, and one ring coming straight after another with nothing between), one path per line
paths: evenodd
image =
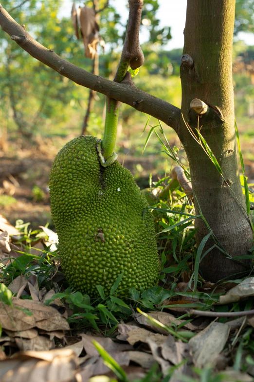
M227 324L212 322L190 339L189 346L195 366L203 367L215 362L227 342L229 331Z

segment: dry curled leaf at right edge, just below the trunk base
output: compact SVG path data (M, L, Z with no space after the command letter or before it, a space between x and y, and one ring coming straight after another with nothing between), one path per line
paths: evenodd
M251 296L254 296L254 277L248 277L248 279L230 289L225 295L219 296L219 302L229 304Z

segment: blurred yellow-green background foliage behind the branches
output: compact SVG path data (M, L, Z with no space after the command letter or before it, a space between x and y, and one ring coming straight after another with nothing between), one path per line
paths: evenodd
M63 0L29 0L14 10L12 8L20 4L20 1L6 0L3 5L7 11L12 10L12 17L19 24L25 24L27 31L36 40L47 48L54 49L64 59L90 71L91 60L84 57L83 44L74 36L71 18L61 16L62 3ZM93 2L88 0L85 3L92 6ZM244 22L239 24L239 20L244 18L249 20L248 25L251 27L251 19L248 17L253 17L252 3L254 0L236 0L237 31L244 30ZM127 6L127 1L125 4ZM100 9L105 5L106 0L99 0ZM179 74L182 50L179 48L166 51L163 47L171 38L170 27L160 28L158 8L158 0L144 1L141 28L147 34L147 41L142 46L145 64L134 82L142 90L180 107ZM127 21L122 20L109 0L109 6L100 12L99 22L100 33L107 44L107 53L100 55L99 71L101 76L112 79L119 62ZM238 41L234 46L234 58L241 55L253 58L254 48ZM252 102L250 100L254 97L250 77L236 73L234 81L236 116L248 118ZM21 145L27 145L27 141L36 141L37 136L44 140L80 134L87 108L88 89L76 85L34 60L3 31L0 31L0 83L0 136L5 128L8 140L17 142L19 138ZM101 94L98 96L99 101L95 103L91 113L88 134L101 138L105 97ZM137 118L139 124L144 124L146 116L125 104L121 106L121 115L124 139L131 141L135 134L138 140L133 125L137 125ZM28 140L24 141L24 137Z

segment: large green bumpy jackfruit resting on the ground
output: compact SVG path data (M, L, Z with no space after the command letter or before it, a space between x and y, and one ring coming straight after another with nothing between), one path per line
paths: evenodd
M154 220L131 173L118 161L102 167L97 138L68 142L50 174L51 212L67 280L75 290L109 294L124 272L119 290L147 289L158 282ZM144 214L145 210L145 214Z

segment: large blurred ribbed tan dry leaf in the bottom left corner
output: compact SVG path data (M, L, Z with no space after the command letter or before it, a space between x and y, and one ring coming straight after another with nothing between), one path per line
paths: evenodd
M77 366L71 349L20 352L0 361L0 381L71 382Z

